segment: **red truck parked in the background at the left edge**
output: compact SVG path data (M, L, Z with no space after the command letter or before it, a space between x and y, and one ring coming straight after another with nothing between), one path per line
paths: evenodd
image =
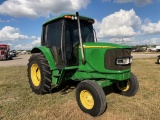
M0 44L0 60L12 59L10 47L6 44Z

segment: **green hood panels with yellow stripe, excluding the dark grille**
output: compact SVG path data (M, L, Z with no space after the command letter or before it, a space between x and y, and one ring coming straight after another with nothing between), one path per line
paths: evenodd
M107 70L104 67L104 54L107 50L110 49L122 49L122 48L131 48L130 46L122 46L117 44L111 44L111 43L101 43L101 42L90 42L90 43L84 43L84 55L86 64L82 64L82 57L81 57L81 51L79 48L79 70L80 71L96 71L100 73L124 73L129 72L129 70Z

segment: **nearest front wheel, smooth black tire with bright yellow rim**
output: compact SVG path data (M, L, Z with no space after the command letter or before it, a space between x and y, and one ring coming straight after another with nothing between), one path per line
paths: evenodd
M103 89L91 80L82 81L77 85L76 100L80 109L91 116L101 115L107 107Z

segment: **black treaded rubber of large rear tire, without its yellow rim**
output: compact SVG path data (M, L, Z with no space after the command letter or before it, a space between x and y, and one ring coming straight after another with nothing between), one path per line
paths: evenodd
M32 62L36 62L39 65L39 68L41 70L41 83L39 88L37 89L33 84L31 80L30 75L30 67L32 65ZM28 72L28 79L30 83L30 87L32 88L32 91L36 94L48 94L51 92L51 70L48 64L47 59L42 53L33 54L29 58L29 63L27 64L27 72Z

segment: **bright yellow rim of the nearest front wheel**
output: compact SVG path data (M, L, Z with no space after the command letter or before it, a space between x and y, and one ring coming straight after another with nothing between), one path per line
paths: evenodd
M92 109L94 106L94 99L92 94L87 91L87 90L82 90L80 93L80 101L82 103L82 105L86 108L86 109Z

